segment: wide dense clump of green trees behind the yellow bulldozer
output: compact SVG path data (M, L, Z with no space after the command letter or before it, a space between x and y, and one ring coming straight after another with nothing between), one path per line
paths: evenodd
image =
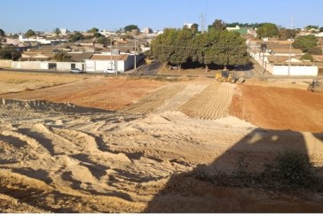
M192 28L165 29L152 42L152 55L161 62L180 67L185 63L206 66L246 65L245 39L239 33L216 28L201 34Z

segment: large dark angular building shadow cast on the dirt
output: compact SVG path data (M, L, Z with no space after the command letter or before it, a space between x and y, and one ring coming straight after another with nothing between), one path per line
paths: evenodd
M322 135L319 145L322 145ZM173 174L166 186L148 203L145 213L321 213L323 197L309 194L291 195L284 190L268 190L248 183L243 187L203 181L193 174L215 174L219 171L261 172L283 151L308 154L302 134L293 131L256 129L224 151L210 165L202 165L191 173ZM220 175L221 176L221 175ZM225 176L223 177L225 179ZM221 177L219 179L221 181ZM217 180L217 181L218 181ZM227 182L227 181L226 181ZM241 181L243 182L243 181ZM227 183L228 184L228 183ZM255 183L256 185L256 183ZM317 194L315 194L317 196Z

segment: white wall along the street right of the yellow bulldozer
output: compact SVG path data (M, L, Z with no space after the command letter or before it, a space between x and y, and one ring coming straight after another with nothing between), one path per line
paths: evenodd
M273 75L288 75L288 66L272 66ZM318 66L290 66L290 74L296 76L317 76Z

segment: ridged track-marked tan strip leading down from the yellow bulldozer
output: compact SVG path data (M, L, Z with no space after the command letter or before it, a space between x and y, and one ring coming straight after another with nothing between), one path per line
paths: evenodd
M179 111L194 119L216 120L223 118L229 115L233 94L234 85L231 83L211 84L181 106Z

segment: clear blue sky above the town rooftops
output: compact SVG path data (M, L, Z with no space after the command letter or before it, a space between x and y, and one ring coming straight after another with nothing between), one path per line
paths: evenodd
M322 0L8 0L1 1L0 28L6 33L33 30L108 30L130 24L139 28L183 27L185 22L206 26L225 22L273 22L291 27L323 27Z

